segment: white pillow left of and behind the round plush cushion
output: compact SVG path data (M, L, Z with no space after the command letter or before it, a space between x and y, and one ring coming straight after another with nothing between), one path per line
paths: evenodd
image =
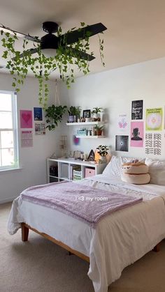
M122 156L115 156L111 158L110 162L103 170L103 174L106 176L113 175L113 176L121 176L122 174L122 164L126 162L132 162L133 160L137 160L135 157L122 157ZM144 162L143 159L138 159L141 162Z

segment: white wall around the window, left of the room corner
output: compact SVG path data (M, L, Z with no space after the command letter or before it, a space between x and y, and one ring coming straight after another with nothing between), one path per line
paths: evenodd
M0 89L13 91L10 75L0 74ZM50 104L55 98L55 82L50 82ZM20 109L34 110L38 104L38 81L27 78L20 93L17 94L17 111L20 144ZM43 114L44 116L44 114ZM33 121L34 125L34 121ZM34 131L34 128L33 128ZM45 136L33 132L33 147L20 147L20 170L0 172L0 203L17 197L24 188L46 183L46 158L53 152L59 152L60 127L55 132L46 130Z

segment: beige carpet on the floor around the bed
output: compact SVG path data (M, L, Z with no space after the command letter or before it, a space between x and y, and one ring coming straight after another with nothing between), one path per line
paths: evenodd
M0 205L0 292L94 292L88 263L30 231L10 236L6 222L10 203ZM165 241L158 253L149 252L125 268L110 292L164 292Z

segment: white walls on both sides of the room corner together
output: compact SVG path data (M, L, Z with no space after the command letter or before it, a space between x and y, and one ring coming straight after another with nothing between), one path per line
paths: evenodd
M0 74L0 89L13 90L10 75ZM50 97L55 98L55 82L50 82ZM105 139L81 139L80 146L73 145L73 134L77 128L59 125L55 132L46 132L45 136L34 135L32 148L20 147L20 165L18 171L4 171L0 173L0 203L10 201L25 187L46 182L46 157L54 151L59 153L59 139L61 135L68 135L69 150L81 150L89 153L99 144L108 144L115 153L115 135L130 135L130 130L120 132L117 128L119 114L127 114L131 121L131 101L141 100L145 109L163 107L165 105L165 58L138 63L132 66L117 68L95 75L80 77L71 89L60 86L60 100L62 105L80 105L82 109L103 107L108 113L109 121L106 125L107 137ZM22 90L17 96L18 112L20 109L38 107L38 82L27 78ZM163 123L164 125L164 123ZM164 130L162 132L162 155L164 151ZM20 130L19 130L20 133ZM130 144L130 141L129 141ZM117 155L146 157L144 148L129 146L129 152L116 152ZM152 155L148 155L153 157Z

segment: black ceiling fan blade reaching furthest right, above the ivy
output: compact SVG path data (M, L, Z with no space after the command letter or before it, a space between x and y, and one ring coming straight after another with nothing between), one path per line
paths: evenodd
M89 26L82 27L82 29L76 29L76 31L71 31L69 33L64 33L64 35L59 36L60 43L66 42L67 45L71 45L73 43L78 42L80 39L84 39L87 36L94 36L97 33L101 33L102 31L106 31L106 26L104 26L101 22L92 24Z

